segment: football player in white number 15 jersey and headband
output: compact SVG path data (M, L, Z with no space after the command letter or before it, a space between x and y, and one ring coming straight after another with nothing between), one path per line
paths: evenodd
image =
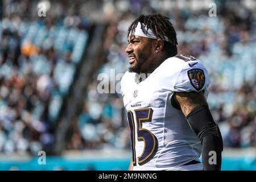
M129 170L220 170L222 137L207 104L204 65L177 55L176 32L161 14L134 20L128 43L121 93L133 152Z

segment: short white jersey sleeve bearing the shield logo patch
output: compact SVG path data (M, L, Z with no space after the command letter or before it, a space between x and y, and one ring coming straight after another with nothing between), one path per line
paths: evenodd
M209 84L210 79L207 69L205 69L201 61L188 61L177 74L177 79L174 84L174 91L200 92L201 90L205 90L208 92Z

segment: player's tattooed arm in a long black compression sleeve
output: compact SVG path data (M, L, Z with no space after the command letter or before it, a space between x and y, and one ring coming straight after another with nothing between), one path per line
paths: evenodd
M176 92L173 99L180 106L191 129L201 140L204 170L220 170L222 137L218 125L212 118L204 93Z

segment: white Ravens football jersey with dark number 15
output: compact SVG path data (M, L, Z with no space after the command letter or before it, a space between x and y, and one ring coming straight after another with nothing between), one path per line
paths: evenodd
M134 170L203 170L201 143L181 110L171 104L174 92L208 95L210 83L200 60L178 55L165 60L146 80L127 71L121 80L131 131Z

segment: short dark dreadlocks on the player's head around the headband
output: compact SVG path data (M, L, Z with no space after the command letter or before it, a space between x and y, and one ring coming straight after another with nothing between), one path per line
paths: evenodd
M163 16L161 14L140 15L139 18L135 19L134 22L131 23L127 37L129 35L134 36L135 28L139 22L147 26L146 32L144 32L145 30L142 28L144 34L147 34L148 28L150 28L159 39L162 39L163 36L167 36L170 42L163 40L163 52L166 56L173 57L177 55L176 31L167 16Z

